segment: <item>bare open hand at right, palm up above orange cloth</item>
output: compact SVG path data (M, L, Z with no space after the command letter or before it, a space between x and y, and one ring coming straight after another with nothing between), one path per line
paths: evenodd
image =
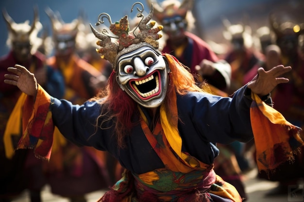
M269 94L278 84L287 83L288 78L280 76L289 72L290 66L278 65L269 71L265 71L262 67L257 70L257 75L247 85L251 91L259 96Z

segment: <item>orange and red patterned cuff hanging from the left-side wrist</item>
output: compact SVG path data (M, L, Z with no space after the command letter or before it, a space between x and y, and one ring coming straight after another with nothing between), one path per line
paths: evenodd
M33 149L38 158L50 160L54 124L50 111L51 96L38 85L36 100L27 96L23 105L23 135L17 149Z

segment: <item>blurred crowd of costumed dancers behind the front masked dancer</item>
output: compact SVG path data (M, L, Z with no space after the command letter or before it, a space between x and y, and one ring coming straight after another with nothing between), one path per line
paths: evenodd
M273 7L265 19L268 23L256 30L248 19L233 24L223 18L225 45L206 42L192 31L195 21L200 20L192 15L193 0L147 3L153 3L153 20L164 26L162 51L185 64L198 85L208 83L210 93L232 97L257 76L258 68L291 66L292 71L284 75L289 82L279 84L271 93L273 108L304 129L304 3L284 9ZM39 22L39 12L49 16L51 34ZM0 58L0 202L10 202L24 190L29 191L31 202L41 202L45 185L70 202L85 202L85 194L108 189L119 180L122 167L107 152L70 144L58 130L50 162L36 158L32 150L16 150L22 134L24 94L16 86L5 84L4 74L7 67L21 64L34 72L50 95L81 105L106 87L112 66L96 52L97 38L84 15L67 23L56 11L34 7L30 24L30 19L16 23L5 9L2 14L7 25L2 30L7 31L10 51ZM132 21L130 30L137 23ZM106 27L101 28L105 32L103 29ZM244 201L248 197L242 176L256 167L254 144L254 140L217 144L220 155L214 162L215 171L237 188ZM287 162L274 173L259 172L257 177L280 182L269 194L282 194L289 185L302 182L303 171L304 156L299 151L292 164Z

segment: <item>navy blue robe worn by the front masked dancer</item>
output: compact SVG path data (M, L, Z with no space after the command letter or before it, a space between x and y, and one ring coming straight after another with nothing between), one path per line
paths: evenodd
M219 154L217 142L226 144L234 140L251 140L253 132L250 122L250 94L250 89L243 87L233 98L198 92L177 95L180 118L178 130L183 140L182 150L203 163L212 164ZM131 134L125 137L126 147L118 149L112 121L103 125L106 129L94 127L102 105L95 101L87 101L81 106L72 105L66 100L53 97L51 103L54 124L71 142L109 151L124 168L136 174L164 168L139 122ZM139 120L139 117L133 118L134 121Z

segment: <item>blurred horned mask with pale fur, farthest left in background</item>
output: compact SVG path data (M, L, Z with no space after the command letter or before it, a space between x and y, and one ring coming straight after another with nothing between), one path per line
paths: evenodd
M7 46L12 48L18 62L27 62L42 41L37 37L38 32L42 29L42 25L39 22L38 9L34 8L32 25L29 25L29 20L24 23L16 23L6 10L3 10L2 14L8 28Z

